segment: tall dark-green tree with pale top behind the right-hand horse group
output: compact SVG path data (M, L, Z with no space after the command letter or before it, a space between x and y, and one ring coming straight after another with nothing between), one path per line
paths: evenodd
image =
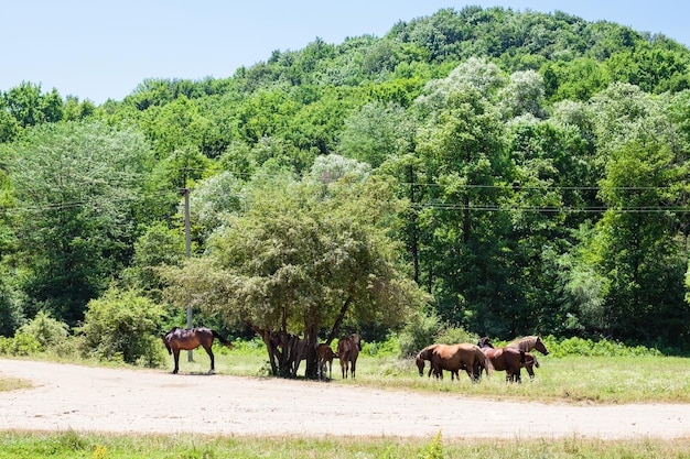
M511 170L489 99L502 81L496 66L474 59L428 85L416 106L423 116L417 150L430 189L420 215L422 275L443 318L493 334L506 330L496 313L508 304L509 220L498 210Z

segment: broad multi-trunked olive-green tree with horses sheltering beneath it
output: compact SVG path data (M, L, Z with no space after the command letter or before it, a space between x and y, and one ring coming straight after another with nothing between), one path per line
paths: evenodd
M314 347L343 320L400 324L422 295L399 265L387 225L397 206L375 178L282 181L248 187L247 210L209 241L208 255L168 275L169 297L250 326L274 375L316 375Z

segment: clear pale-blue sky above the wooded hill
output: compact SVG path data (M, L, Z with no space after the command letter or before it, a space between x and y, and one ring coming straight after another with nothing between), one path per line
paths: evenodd
M97 105L147 78L227 78L314 39L382 36L398 21L468 4L564 11L690 46L686 0L21 0L0 8L0 91L22 81Z

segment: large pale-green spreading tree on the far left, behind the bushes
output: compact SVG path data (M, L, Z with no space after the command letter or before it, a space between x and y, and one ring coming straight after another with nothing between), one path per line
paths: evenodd
M36 127L12 150L28 306L74 324L131 256L150 147L133 130L68 122Z

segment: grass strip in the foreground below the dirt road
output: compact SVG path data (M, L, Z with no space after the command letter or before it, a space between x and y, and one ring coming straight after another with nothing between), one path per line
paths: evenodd
M65 431L0 431L0 457L8 458L688 458L686 440L597 439L294 438L116 436Z

